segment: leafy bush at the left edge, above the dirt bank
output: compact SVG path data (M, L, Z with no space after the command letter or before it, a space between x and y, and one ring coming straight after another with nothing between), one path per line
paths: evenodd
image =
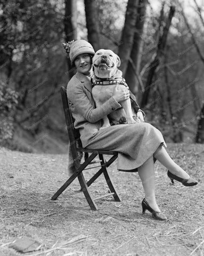
M0 142L13 135L13 115L18 105L18 93L0 82Z

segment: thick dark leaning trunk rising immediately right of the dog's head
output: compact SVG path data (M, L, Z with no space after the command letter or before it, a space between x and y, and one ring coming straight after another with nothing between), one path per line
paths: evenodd
M133 46L135 23L138 14L138 3L139 0L128 1L125 14L125 23L121 37L121 44L118 49L118 55L121 58L120 70L123 72L124 77L128 68L128 62Z

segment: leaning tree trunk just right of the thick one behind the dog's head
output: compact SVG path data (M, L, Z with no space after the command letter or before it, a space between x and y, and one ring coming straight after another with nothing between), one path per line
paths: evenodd
M130 58L132 59L135 70L133 69L130 61L128 63L128 69L125 74L126 83L130 87L130 90L133 94L138 93L138 76L140 74L140 63L141 63L141 57L142 57L142 50L143 50L143 29L145 25L145 14L146 14L146 8L147 8L147 0L139 0L139 6L138 6L138 17L135 24L135 32L134 32L134 43L132 46L132 51ZM136 72L136 74L135 74ZM143 88L140 88L143 89Z

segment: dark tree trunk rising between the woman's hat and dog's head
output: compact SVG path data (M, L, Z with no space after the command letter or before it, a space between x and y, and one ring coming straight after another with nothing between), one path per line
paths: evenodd
M100 49L100 33L97 19L96 0L84 0L88 41L97 51Z

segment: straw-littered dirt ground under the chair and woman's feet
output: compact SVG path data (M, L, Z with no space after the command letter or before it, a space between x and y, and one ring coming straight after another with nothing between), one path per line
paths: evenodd
M168 145L169 154L192 177L194 187L171 185L165 168L155 164L157 202L167 221L142 214L144 197L138 173L109 173L121 196L99 199L91 211L76 179L56 201L50 198L67 179L67 156L28 154L0 148L0 255L203 255L204 146ZM88 180L94 170L87 171ZM94 197L108 193L101 176L90 187ZM11 244L35 239L40 250L19 253Z

